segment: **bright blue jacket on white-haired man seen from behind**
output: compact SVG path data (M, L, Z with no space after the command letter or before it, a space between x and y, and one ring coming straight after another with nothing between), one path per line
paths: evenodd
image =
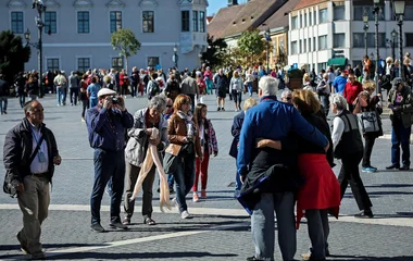
M260 104L248 110L239 136L237 171L246 175L252 161L252 151L256 139L281 140L290 132L322 148L328 144L327 138L313 125L308 123L292 104L279 102L276 97L263 97Z

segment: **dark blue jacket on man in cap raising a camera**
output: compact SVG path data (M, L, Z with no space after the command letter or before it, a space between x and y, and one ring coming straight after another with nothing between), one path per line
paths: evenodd
M87 111L86 125L91 148L121 151L125 148L125 129L134 126L134 116L97 105Z

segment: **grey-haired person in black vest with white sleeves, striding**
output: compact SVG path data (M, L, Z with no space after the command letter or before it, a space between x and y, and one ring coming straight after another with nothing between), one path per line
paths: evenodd
M373 203L359 172L359 164L363 158L363 141L360 135L359 120L347 110L346 99L338 94L331 96L330 109L336 114L331 132L334 154L335 158L341 159L342 162L340 174L338 175L341 199L350 184L351 191L361 211L354 217L372 219L374 216L372 211Z

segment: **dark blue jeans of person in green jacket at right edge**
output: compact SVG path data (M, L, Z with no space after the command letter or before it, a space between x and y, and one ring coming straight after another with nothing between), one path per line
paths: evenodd
M403 153L401 156L403 165L410 166L410 134L412 127L405 128L401 121L395 120L391 129L391 164L400 165L400 145Z

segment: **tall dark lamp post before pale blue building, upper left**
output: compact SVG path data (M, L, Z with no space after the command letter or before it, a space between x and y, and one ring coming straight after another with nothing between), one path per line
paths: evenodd
M37 11L37 16L35 18L36 21L36 26L38 28L39 33L39 40L38 42L30 42L30 30L27 28L26 33L24 33L24 38L26 39L26 45L32 46L38 50L37 55L38 55L38 62L39 62L39 83L40 83L40 98L43 97L45 95L45 87L43 87L43 80L42 80L42 72L43 72L43 61L42 61L42 54L43 54L43 47L42 47L42 41L41 41L41 35L43 32L45 23L41 20L41 15L43 12L46 12L46 5L41 0L33 0L32 9L36 9Z

